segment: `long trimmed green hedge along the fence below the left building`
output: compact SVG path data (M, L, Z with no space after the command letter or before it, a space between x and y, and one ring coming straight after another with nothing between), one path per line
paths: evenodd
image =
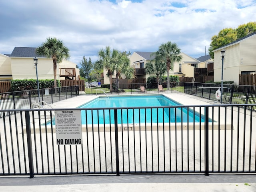
M54 79L40 79L38 80L40 89L54 88ZM60 80L57 80L57 87L60 87ZM37 89L36 79L16 79L11 80L12 91L24 91Z

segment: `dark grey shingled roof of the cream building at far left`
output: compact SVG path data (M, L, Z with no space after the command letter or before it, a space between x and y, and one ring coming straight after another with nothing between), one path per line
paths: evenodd
M9 57L44 57L36 54L36 47L14 47Z

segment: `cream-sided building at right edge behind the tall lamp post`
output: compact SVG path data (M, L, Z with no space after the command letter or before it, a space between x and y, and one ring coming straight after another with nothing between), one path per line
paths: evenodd
M240 74L256 72L256 32L214 50L214 81L221 81L222 49L226 51L223 81L234 81L235 84L239 84Z

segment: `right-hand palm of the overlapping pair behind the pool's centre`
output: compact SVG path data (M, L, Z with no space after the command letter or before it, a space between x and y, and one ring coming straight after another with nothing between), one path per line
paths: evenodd
M114 70L116 72L116 79L115 79L115 84L116 84L116 90L118 91L118 84L119 84L119 78L121 77L121 74L124 74L127 79L132 79L134 78L134 68L130 67L130 59L128 56L131 54L131 52L119 52Z

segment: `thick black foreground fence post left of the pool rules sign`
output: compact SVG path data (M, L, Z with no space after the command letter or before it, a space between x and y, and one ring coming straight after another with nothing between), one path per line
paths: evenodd
M28 163L29 163L29 174L30 174L29 178L34 178L34 165L33 165L29 111L25 111L25 118L26 118L26 133L27 133L27 143L28 143Z

